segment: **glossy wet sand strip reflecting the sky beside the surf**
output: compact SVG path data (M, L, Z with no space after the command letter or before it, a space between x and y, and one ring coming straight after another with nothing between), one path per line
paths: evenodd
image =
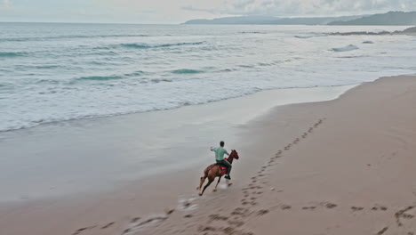
M6 160L2 172L4 173L8 169L17 167L18 169L22 168L21 171L24 174L25 170L23 168L32 168L39 165L37 161L48 160L48 162L43 163L48 166L38 166L40 168L36 169L36 171L44 170L49 173L49 177L53 178L56 173L51 172L50 168L57 166L59 168L63 164L59 159L64 158L64 162L70 164L68 165L69 168L78 168L79 166L76 166L78 162L83 162L83 164L89 167L100 166L108 171L108 174L124 174L122 177L108 176L108 180L112 181L112 184L119 184L118 181L120 180L122 183L130 182L150 175L156 175L161 171L173 172L183 166L187 168L200 166L208 163L209 161L207 160L211 160L211 158L206 157L210 156L209 152L203 153L201 158L204 158L204 160L187 157L185 160L180 160L176 163L172 159L166 159L163 162L163 166L155 158L160 158L161 154L163 154L158 153L158 151L166 151L165 154L172 156L179 155L178 149L180 148L200 152L201 148L206 148L206 146L202 147L201 144L214 144L217 142L217 139L235 139L234 136L242 126L246 125L250 120L264 115L269 109L291 103L336 99L341 93L354 86L356 85L268 90L225 101L185 106L179 109L157 110L108 118L71 120L6 132L0 134L0 148L4 150L5 156L14 156L13 161L18 161L18 163L11 162L11 165L8 165ZM235 108L242 106L244 106L244 109ZM216 109L225 111L221 114L216 114ZM198 131L197 128L200 128L202 131ZM213 135L217 136L214 138ZM195 140L195 137L200 140ZM172 139L177 140L172 141ZM21 146L21 142L25 142L25 145ZM188 142L191 146L186 147L184 145L185 142ZM156 143L157 146L155 145ZM233 142L229 143L233 144ZM47 148L44 149L42 146ZM39 147L41 147L41 150L39 150ZM74 150L77 148L80 150ZM100 148L107 150L100 150ZM120 163L113 156L120 154L124 155L121 159L122 161L131 160L134 167L128 166L129 163L124 164L124 166L118 166ZM139 156L136 156L138 154ZM91 155L103 155L104 159L93 158ZM36 159L27 162L26 158L28 156ZM60 156L60 158L57 160L54 156ZM99 162L98 165L93 163L97 161ZM143 164L148 164L148 167L140 166ZM113 169L114 166L118 166L116 169L118 173ZM92 178L95 177L93 176L94 174L100 174L100 171L89 174L87 171L91 170L85 167L80 172L84 178ZM36 175L36 171L33 170L26 175L39 177ZM16 173L10 174L21 178ZM71 173L68 172L67 174ZM7 176L9 175L5 174L4 178ZM24 183L23 181L24 179L20 182ZM44 176L43 181L47 182L48 178ZM72 186L71 184L74 184L76 181L78 183ZM39 182L39 180L36 182ZM38 184L36 182L30 183L30 186L22 185L21 187L33 187L31 185ZM80 184L79 182L82 183ZM94 185L94 182L91 183ZM73 191L83 192L83 190L80 191L77 187L81 186L81 189L84 188L84 181L82 179L74 179L71 175L60 180L60 182L44 185L42 189L53 192L56 188L59 189L60 185L66 184L69 185L68 190L64 190L57 195L52 193L52 196L61 197L67 193L72 194ZM35 191L39 190L38 186L34 187ZM4 188L7 189L7 187ZM112 188L100 185L100 187L94 190L110 190ZM89 193L91 190L85 192ZM24 193L20 198L27 200L38 197L36 197L36 193L32 196ZM0 199L0 201L2 200L4 201L4 199Z

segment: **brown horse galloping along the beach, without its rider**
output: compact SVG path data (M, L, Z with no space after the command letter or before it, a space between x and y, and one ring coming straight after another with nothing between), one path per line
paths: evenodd
M238 153L236 152L236 150L231 150L231 153L229 154L229 157L227 160L230 164L233 164L233 160L238 159L238 158L240 157L238 156ZM218 179L218 182L214 188L214 191L216 191L217 186L220 183L221 177L224 176L226 172L227 172L227 169L221 169L221 167L217 164L212 164L206 167L204 170L204 176L201 177L201 182L199 183L198 190L201 190L202 185L204 184L206 178L208 178L208 183L205 185L204 190L206 190L206 188L210 186L210 184L214 181L216 177L220 177L220 179ZM204 194L204 190L202 190L202 192L199 193L199 196L202 196Z

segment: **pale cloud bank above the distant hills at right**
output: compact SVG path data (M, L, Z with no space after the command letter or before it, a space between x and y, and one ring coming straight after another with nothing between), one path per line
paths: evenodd
M234 15L334 15L387 11L416 11L415 0L224 0L223 4L199 7L190 4L187 11Z

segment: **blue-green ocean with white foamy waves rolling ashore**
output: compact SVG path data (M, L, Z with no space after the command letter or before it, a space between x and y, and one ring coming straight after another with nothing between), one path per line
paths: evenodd
M406 27L0 23L0 131L414 74Z

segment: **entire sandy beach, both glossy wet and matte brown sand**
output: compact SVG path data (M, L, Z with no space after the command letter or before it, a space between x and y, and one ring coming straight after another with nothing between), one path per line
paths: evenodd
M60 154L76 158L88 171L64 160L79 177L59 174L54 182L30 188L30 195L4 192L0 234L413 234L416 77L383 77L350 88L312 89L308 99L297 101L290 99L293 90L285 96L270 91L161 111L164 115L98 118L4 134L2 150L21 162L28 160L25 153L36 150L36 155L48 155L45 169L53 168L47 163ZM344 90L348 92L332 100ZM285 102L270 97L289 97L286 103L297 104L279 105ZM219 108L233 111L218 117L212 109ZM192 118L200 121L190 122ZM224 128L229 132L219 134ZM226 148L239 152L234 184L222 182L218 191L212 192L212 186L197 197L199 177L213 157L209 151L200 157L194 153L217 139L230 140ZM25 150L17 148L19 142L28 143ZM127 156L120 157L123 167L109 171L119 164L109 156L120 152ZM178 166L175 158L181 155L188 157ZM152 171L161 165L160 158L166 167ZM126 171L129 166L137 174ZM53 177L48 170L42 178L36 167L29 168L33 182ZM112 174L124 180L115 181ZM92 181L84 181L91 175ZM7 191L13 191L8 179ZM117 190L97 184L116 185ZM68 193L79 185L94 190ZM51 193L44 195L45 189Z

